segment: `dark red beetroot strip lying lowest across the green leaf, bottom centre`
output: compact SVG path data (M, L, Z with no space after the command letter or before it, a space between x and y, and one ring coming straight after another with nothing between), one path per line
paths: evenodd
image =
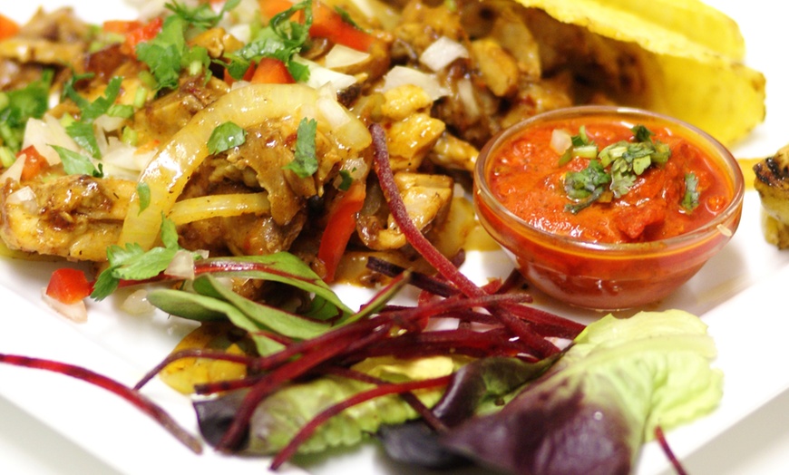
M315 416L310 422L307 422L307 424L297 432L293 439L287 443L287 446L285 446L282 451L279 451L274 460L271 461L271 470L277 470L280 465L293 457L293 455L298 450L298 447L307 441L307 439L309 439L309 437L321 424L336 416L336 414L345 411L347 408L353 407L356 404L360 404L362 402L370 401L371 399L375 399L377 397L385 396L387 394L410 393L417 389L445 386L449 384L451 377L452 376L443 376L440 378L427 379L423 381L412 381L408 383L381 384L378 387L364 391L362 393L357 393L343 402L338 402L335 405L326 408L323 412L317 414L317 416Z

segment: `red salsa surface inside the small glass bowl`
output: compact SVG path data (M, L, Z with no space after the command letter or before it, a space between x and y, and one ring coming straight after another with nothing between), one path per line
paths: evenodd
M638 140L639 128L651 132L648 139ZM586 143L596 146L592 147L595 152L609 146L621 150L625 144L634 144L636 149L657 144L663 151L667 146L669 155L660 160L653 155L646 170L626 173L620 180L627 182L624 192L621 187L611 190L618 186L614 171L618 165L605 163L603 157L607 166L599 169L615 177L614 185L606 182L597 191L581 189L581 195L599 196L579 198L569 194L568 180L586 179L592 161L602 164L597 153L578 151L588 152L589 147L576 147L577 152L568 151L569 155L555 150L556 145L551 146L554 133L574 135L576 141L585 134ZM631 123L615 116L536 124L503 142L489 160L488 187L504 208L534 228L590 242L645 242L684 234L724 210L735 193L726 171L687 137L661 123Z

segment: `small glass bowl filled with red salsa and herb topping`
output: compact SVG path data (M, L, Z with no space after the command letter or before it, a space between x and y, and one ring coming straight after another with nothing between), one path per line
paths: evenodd
M735 233L744 179L695 127L650 111L580 106L498 134L474 170L482 226L533 286L570 305L647 305Z

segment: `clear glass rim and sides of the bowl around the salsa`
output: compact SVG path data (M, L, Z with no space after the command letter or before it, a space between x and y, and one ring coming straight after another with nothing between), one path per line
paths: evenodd
M502 146L546 121L616 115L634 123L667 127L706 152L729 180L733 197L711 221L677 237L638 243L600 243L560 236L531 226L492 193L488 177ZM545 147L550 147L546 143ZM670 160L670 159L669 159ZM731 152L696 127L651 111L615 106L578 106L544 112L493 137L474 170L473 201L482 227L511 255L521 274L560 302L597 310L620 310L657 302L704 266L734 235L745 193L742 171Z

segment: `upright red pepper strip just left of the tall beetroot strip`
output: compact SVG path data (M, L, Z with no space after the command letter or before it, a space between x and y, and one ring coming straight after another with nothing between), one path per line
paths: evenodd
M320 239L317 257L326 266L326 282L335 278L340 257L346 251L348 240L356 230L356 213L365 203L365 183L354 181L345 194L339 198L336 207L329 212L326 230Z

